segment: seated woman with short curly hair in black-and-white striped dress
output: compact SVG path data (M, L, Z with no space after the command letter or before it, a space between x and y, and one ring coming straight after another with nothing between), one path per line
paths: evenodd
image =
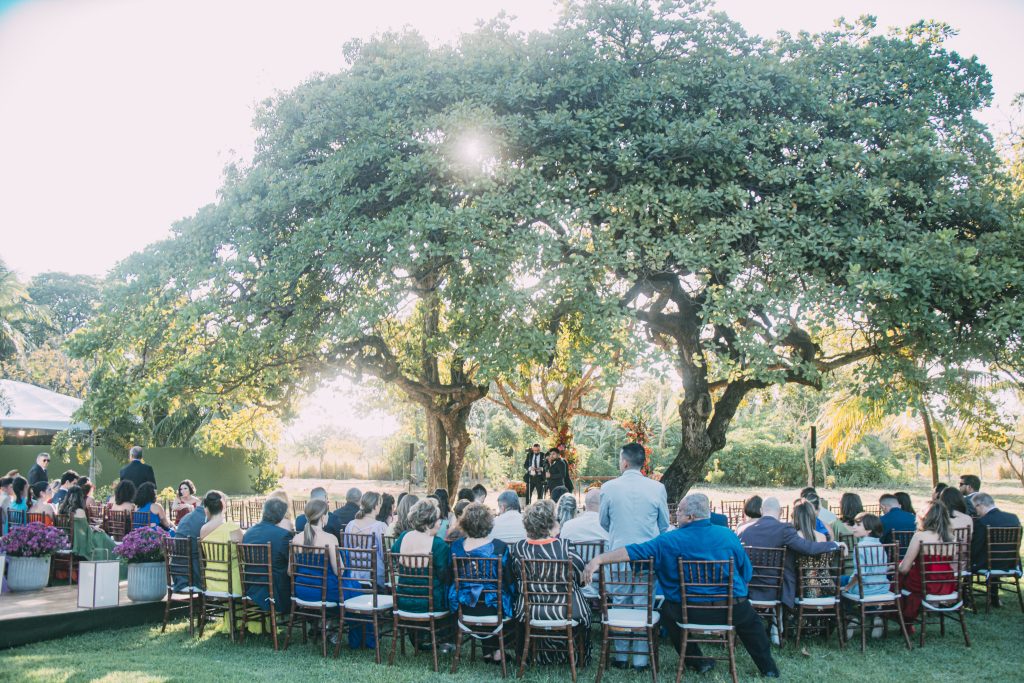
M522 523L526 529L526 538L516 542L509 550L512 557L512 579L518 585L523 581L521 560L568 560L571 565L572 589L572 620L578 622L573 628L577 642L581 647L577 650L577 666L586 667L590 661L590 605L583 593L583 587L589 583L590 575L584 575L583 558L571 550L567 541L558 539L558 519L555 517L555 505L552 501L541 500L526 508L522 515ZM529 587L531 591L544 591L540 587ZM517 621L525 624L530 620L565 620L568 618L565 605L532 605L532 612L525 613L525 603L522 591L517 591L514 613ZM559 644L561 643L561 644ZM538 647L537 656L541 664L558 664L566 661L564 641L552 640L542 642ZM548 650L548 651L543 651Z

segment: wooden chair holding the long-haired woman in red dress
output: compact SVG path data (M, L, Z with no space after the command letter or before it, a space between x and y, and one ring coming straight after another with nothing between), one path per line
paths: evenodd
M928 617L937 616L939 633L946 635L946 620L959 622L964 632L964 643L971 647L971 638L967 633L967 620L964 617L964 584L959 578L959 552L956 542L923 543L918 551L918 567L921 571L921 587L924 598L921 602L921 612L918 624L921 627L921 647L925 646L925 630L928 628ZM949 558L948 562L927 562L926 558ZM949 591L950 588L954 590Z

